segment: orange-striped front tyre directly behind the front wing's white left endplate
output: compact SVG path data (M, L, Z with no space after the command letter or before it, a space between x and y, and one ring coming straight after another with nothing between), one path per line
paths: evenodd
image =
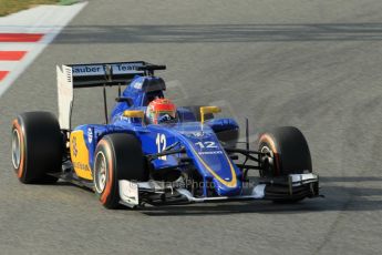
M106 208L120 206L118 181L147 181L140 141L132 134L105 135L94 154L95 194Z

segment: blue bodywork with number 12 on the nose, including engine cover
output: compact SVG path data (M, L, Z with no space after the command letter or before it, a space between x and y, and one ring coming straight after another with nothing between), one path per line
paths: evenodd
M216 132L238 130L235 120L213 119L202 124L196 121L193 112L184 108L178 108L177 113L182 118L178 118L179 121L176 123L142 124L142 120L123 115L125 110L145 111L151 100L155 96L164 96L163 90L145 88L145 84L155 83L159 81L158 79L161 78L136 76L122 93L122 96L130 98L131 102L116 103L110 124L85 124L74 129L83 131L89 150L89 165L93 166L96 144L104 135L131 133L141 141L145 155L162 152L173 144L177 144L176 147L184 146L203 181L213 183L217 195L240 195L242 191L241 171L233 163L216 136ZM154 171L179 165L179 156L180 154L173 154L154 160L152 162ZM206 188L204 195L207 196Z

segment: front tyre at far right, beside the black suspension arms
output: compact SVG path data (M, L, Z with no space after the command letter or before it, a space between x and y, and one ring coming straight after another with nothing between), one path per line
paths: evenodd
M281 126L259 137L260 176L273 177L312 171L307 140L295 126Z

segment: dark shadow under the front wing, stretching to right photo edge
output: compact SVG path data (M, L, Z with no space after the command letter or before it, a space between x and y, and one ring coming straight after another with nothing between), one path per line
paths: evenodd
M293 204L270 201L206 203L172 206L149 206L138 210L148 216L175 215L225 215L225 214L301 214L314 212L360 212L382 211L382 187L371 187L368 182L381 182L380 177L348 176L321 177L321 193L324 197L304 200ZM347 185L342 185L345 182ZM335 185L334 185L335 184Z

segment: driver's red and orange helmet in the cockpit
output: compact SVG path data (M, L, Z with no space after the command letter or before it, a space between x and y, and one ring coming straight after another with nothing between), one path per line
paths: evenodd
M146 119L152 124L175 120L176 106L168 99L155 99L147 105Z

